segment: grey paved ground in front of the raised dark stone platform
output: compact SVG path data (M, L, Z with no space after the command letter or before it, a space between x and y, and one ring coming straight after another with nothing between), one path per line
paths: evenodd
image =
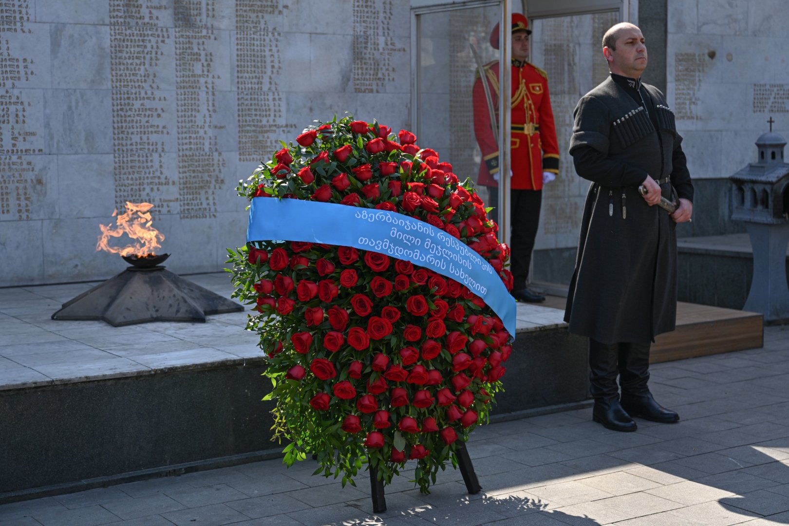
M585 409L481 427L469 442L477 495L451 469L429 495L406 472L387 487L388 511L374 514L364 476L342 489L311 476L312 461L263 461L0 505L0 523L789 524L789 326L768 327L764 349L652 371L653 391L680 423L639 420L622 434Z

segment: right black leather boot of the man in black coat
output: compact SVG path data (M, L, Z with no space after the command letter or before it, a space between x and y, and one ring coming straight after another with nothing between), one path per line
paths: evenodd
M624 343L619 348L622 407L632 416L652 422L679 422L679 415L658 404L649 392L649 343Z

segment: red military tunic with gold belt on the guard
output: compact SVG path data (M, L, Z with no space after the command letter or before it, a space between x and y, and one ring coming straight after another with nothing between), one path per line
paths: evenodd
M540 190L542 173L559 173L559 145L553 122L548 76L529 62L512 61L512 179L514 190ZM499 62L484 65L499 118ZM482 151L477 184L498 186L492 175L499 171L499 145L493 138L490 111L477 72L473 88L474 132Z

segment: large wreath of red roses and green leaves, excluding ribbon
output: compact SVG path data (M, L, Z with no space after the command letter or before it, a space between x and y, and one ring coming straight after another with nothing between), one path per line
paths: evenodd
M312 200L418 218L467 244L507 289L509 249L470 181L416 136L342 118L311 126L239 185L241 196ZM296 241L229 251L234 297L254 304L288 465L316 455L343 485L365 462L384 483L408 460L421 491L457 464L488 416L512 351L487 305L451 278L378 252Z

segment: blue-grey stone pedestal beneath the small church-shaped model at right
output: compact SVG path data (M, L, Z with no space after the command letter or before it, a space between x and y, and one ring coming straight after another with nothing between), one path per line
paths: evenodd
M765 324L789 320L786 259L789 225L747 222L753 247L753 282L742 310L761 312Z

